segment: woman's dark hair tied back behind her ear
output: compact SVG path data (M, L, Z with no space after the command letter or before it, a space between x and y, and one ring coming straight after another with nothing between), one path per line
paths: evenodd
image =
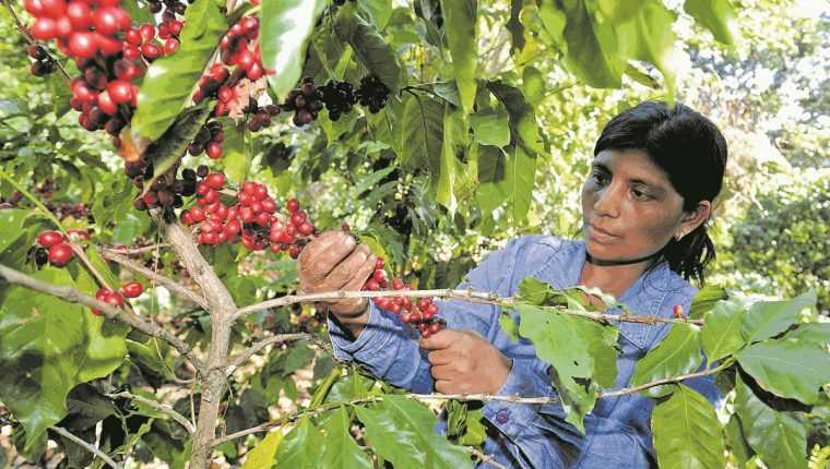
M645 101L620 112L603 129L594 156L606 149L643 151L668 175L686 212L700 201L714 201L721 192L726 141L709 119L679 103L669 108L662 101ZM715 256L707 221L663 249L672 270L701 284L703 268Z

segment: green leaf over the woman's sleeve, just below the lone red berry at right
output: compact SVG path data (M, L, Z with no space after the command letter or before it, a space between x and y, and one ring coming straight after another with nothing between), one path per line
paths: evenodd
M631 386L686 374L697 370L700 354L700 328L693 324L673 324L665 338L637 362ZM671 386L655 386L640 392L643 396L660 397L674 390Z

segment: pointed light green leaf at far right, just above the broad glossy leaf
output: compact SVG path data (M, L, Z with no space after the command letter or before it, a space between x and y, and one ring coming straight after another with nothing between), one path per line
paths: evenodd
M759 301L744 314L740 334L747 344L776 336L795 324L798 313L816 304L816 293L808 291L791 300Z

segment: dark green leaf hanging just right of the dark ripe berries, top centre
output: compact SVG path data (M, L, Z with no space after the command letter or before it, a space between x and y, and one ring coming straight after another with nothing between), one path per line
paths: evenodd
M443 108L436 99L413 95L406 100L400 122L401 165L413 169L426 167L434 188L441 173Z

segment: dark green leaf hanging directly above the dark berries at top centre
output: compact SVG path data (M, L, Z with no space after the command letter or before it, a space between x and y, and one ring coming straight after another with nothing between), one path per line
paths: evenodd
M398 53L383 40L383 36L370 24L355 16L355 28L348 44L360 63L387 85L392 96L396 95L401 89L401 65ZM392 96L390 99L393 99Z

